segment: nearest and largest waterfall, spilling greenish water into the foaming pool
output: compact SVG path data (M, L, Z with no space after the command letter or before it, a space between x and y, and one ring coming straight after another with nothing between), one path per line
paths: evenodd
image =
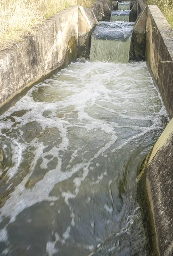
M128 63L133 24L99 22L92 34L90 61Z

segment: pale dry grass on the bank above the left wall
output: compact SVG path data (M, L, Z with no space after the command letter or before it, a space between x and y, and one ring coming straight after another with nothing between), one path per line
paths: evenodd
M32 27L71 5L90 7L93 0L0 0L0 50L9 48Z

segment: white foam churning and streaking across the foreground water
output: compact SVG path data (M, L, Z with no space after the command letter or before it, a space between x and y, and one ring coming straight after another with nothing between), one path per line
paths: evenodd
M39 102L37 99L41 87L43 88L40 97L45 99L43 102ZM57 91L60 91L60 94L64 91L64 94L62 93L60 97ZM17 174L23 152L27 147L33 146L34 152L29 173L16 186L14 192L10 194L9 199L1 208L1 220L3 220L3 216L6 216L10 218L10 222L15 221L20 212L34 204L42 201L50 203L57 201L56 196L49 195L54 186L63 180L69 179L82 169L82 176L73 179L75 192L62 191L65 204L71 207L68 199L77 196L82 182L94 168L91 164L97 158L106 156L109 150L115 152L118 148L122 148L125 144L143 136L152 129L159 129L159 127L162 127L162 116L168 118L145 62L115 64L107 62L89 63L86 61L85 63L71 64L67 69L54 75L54 79L47 79L44 84L32 87L26 96L1 116L1 119L10 116L14 111L22 110L27 111L23 116L14 116L16 122L18 122L15 129L20 131L18 137L12 139L14 144L17 145L13 152L14 159L15 155L20 154L18 159L15 160L15 168L8 172L9 177ZM50 111L49 118L45 116L45 111ZM121 119L151 120L152 125L144 127L128 123L122 125ZM38 138L34 138L31 142L22 142L23 127L29 122L37 122L43 132L46 128L56 128L60 134L60 144L54 145L46 152L47 146ZM10 119L1 121L1 129L9 129L12 132L14 130L13 124L14 122ZM121 131L121 128L130 128L139 131L139 134L132 135L116 147L116 142L119 139L117 128L119 131ZM78 136L76 139L78 145L75 145L76 140L71 143L72 135L69 131L74 131L73 129L75 129L75 132L79 130L79 134L75 134L76 137ZM92 135L94 132L97 133L97 136L87 137L88 134ZM100 139L104 137L101 146L95 142L97 137ZM79 145L80 138L84 140L81 145ZM85 148L90 140L93 140L94 149L92 150L94 150L94 153L90 155L89 159L81 158L80 163L75 163L81 150L84 150L83 153L85 154L90 151L90 148ZM65 171L62 171L63 160L70 150L72 152L69 157L69 164ZM31 189L26 189L25 185L34 172L40 157L43 160L41 167L48 169L48 163L51 160L47 159L46 156L57 158L56 168L48 170L42 180L38 181ZM102 174L97 177L96 182L99 183L100 180L102 180ZM108 212L112 212L111 208L105 207ZM73 209L71 209L71 218L71 225L73 226ZM69 236L69 230L64 234L62 240ZM48 244L48 248L53 245Z

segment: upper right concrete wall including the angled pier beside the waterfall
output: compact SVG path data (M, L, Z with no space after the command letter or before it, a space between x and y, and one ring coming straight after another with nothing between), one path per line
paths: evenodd
M173 29L157 6L146 6L134 25L131 60L146 60L173 117Z

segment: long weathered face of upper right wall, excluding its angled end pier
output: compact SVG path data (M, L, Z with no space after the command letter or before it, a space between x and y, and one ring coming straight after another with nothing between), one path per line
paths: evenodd
M146 61L173 117L173 29L157 6L147 6Z

